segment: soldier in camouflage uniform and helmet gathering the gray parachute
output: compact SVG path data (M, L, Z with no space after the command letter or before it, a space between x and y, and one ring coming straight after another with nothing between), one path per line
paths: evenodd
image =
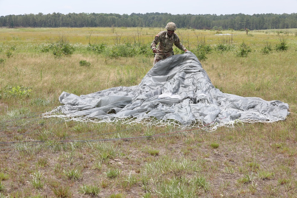
M172 56L173 53L173 43L176 47L183 51L188 51L179 41L179 38L174 31L176 30L175 23L169 22L165 27L167 31L160 31L159 34L156 35L155 39L151 43L151 49L155 53L154 63L155 65L158 61L165 59L169 56ZM157 49L156 45L159 43Z

